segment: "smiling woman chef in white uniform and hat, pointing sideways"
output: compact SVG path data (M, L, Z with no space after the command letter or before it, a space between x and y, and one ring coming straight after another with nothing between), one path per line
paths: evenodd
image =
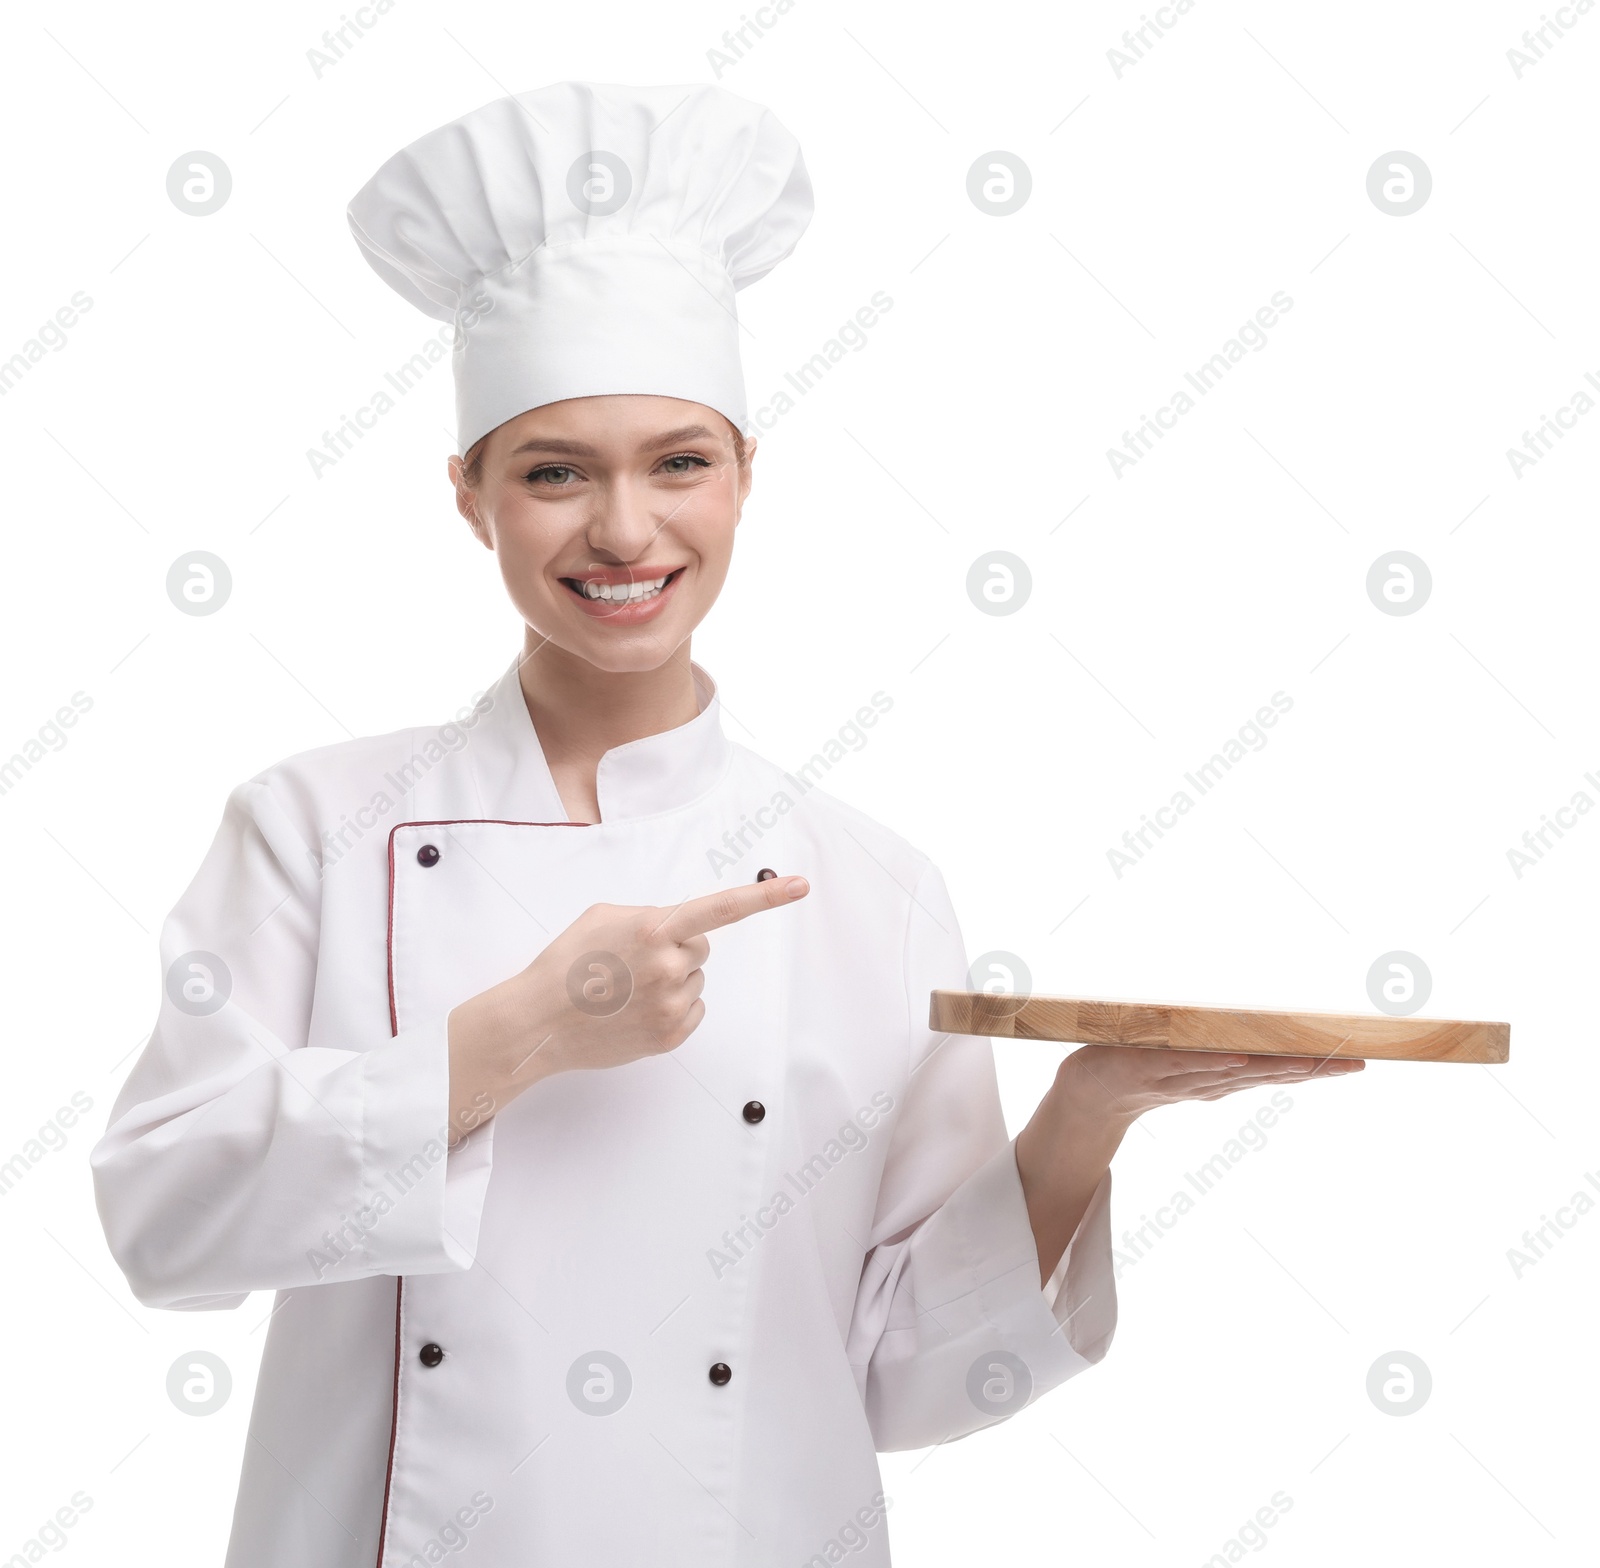
M230 1568L888 1563L877 1450L1106 1354L1131 1120L1358 1066L1083 1050L1008 1141L926 1027L939 872L723 734L734 290L810 213L765 109L573 82L350 205L456 325L525 632L458 720L238 786L162 934L94 1176L141 1301L278 1293Z

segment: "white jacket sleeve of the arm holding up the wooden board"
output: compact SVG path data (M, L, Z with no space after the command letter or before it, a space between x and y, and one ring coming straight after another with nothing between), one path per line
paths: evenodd
M1003 1421L1101 1360L1117 1322L1109 1173L1040 1288L994 1050L928 1029L930 990L966 984L955 912L928 866L906 942L910 1078L848 1338L880 1451Z

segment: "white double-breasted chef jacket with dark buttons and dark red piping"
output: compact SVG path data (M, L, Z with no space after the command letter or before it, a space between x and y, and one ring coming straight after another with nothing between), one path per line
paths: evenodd
M939 872L694 682L696 718L605 754L598 824L515 662L229 797L93 1154L139 1301L278 1293L229 1568L882 1568L875 1451L1106 1354L1109 1176L1042 1290L990 1045L928 1029L966 984ZM683 1045L446 1152L456 1003L590 904L762 867L811 893L712 933Z

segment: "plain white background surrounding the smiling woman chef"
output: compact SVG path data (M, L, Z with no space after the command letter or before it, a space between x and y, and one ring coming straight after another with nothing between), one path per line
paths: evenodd
M1600 1171L1600 813L1520 878L1506 851L1600 800L1600 411L1522 477L1506 451L1600 376L1600 13L1560 13L1520 78L1533 3L1198 0L1120 77L1136 5L1058 13L797 0L723 69L818 192L742 296L752 406L875 291L893 307L762 440L696 658L734 739L784 766L888 694L829 789L926 850L970 954L1022 955L1035 989L1354 1011L1405 949L1426 1011L1510 1019L1512 1061L1294 1090L1123 1270L1099 1368L885 1459L896 1560L1181 1568L1278 1491L1259 1555L1285 1568L1584 1560L1600 1218L1520 1278L1507 1250ZM307 462L435 330L344 205L504 91L712 80L739 6L398 0L318 78L338 24L330 0L6 26L0 357L74 291L93 309L0 398L0 757L75 691L93 706L0 795L0 1162L74 1093L93 1110L0 1198L0 1555L85 1491L62 1547L83 1568L221 1558L270 1301L134 1304L86 1165L155 1014L154 933L230 786L446 718L518 642L445 485L448 370L322 478ZM194 149L234 178L208 218L165 189ZM966 195L997 149L1034 181L1005 218ZM1366 194L1397 149L1434 179L1406 218ZM1275 291L1267 346L1118 478L1107 446ZM234 574L210 618L165 594L194 549ZM965 589L995 549L1032 573L1003 618ZM1410 616L1366 595L1392 550L1432 571ZM1274 691L1269 744L1117 877L1107 850ZM997 1046L1013 1128L1059 1054ZM1118 1234L1262 1102L1136 1128ZM203 1419L165 1394L192 1349L235 1379ZM1366 1395L1397 1349L1434 1379L1405 1418Z

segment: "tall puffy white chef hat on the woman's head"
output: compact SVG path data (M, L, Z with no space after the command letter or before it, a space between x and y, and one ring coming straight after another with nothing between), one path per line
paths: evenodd
M558 82L403 147L357 192L378 275L456 325L456 437L650 392L746 429L734 290L811 219L800 144L718 86Z

